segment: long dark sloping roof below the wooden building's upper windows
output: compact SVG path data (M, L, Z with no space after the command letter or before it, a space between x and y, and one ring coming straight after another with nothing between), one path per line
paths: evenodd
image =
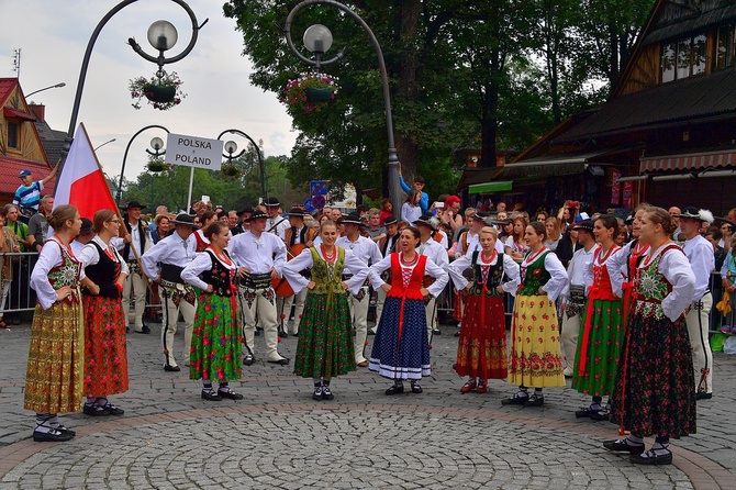
M579 121L554 143L726 114L736 116L736 68L615 98L598 112Z

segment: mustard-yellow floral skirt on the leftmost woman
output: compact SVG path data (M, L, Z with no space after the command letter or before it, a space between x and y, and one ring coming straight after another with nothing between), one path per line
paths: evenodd
M25 371L26 410L69 413L81 409L85 325L81 304L36 304Z

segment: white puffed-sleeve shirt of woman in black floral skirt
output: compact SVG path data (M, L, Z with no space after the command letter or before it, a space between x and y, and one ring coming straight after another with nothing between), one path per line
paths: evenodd
M668 245L670 244L666 243L650 252L651 260L656 259ZM648 260L648 256L645 257L639 268L644 268L645 263L650 263ZM657 271L672 285L672 292L662 300L662 311L668 319L676 321L695 299L695 275L692 272L688 257L680 250L672 249L662 256Z

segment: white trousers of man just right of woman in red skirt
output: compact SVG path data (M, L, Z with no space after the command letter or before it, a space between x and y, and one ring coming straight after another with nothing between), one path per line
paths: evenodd
M164 354L166 355L169 366L177 366L176 358L174 357L174 336L177 333L179 312L181 312L185 323L185 363L189 363L189 356L191 354L191 335L194 328L197 300L194 299L193 303L190 303L185 299L187 289L190 289L190 287L188 288L183 285L177 285L176 290L163 286L158 287L158 294L161 299L161 307L165 315L164 324L161 325L161 347L164 348ZM191 292L191 294L193 294L193 292ZM177 302L179 303L178 307L176 304Z

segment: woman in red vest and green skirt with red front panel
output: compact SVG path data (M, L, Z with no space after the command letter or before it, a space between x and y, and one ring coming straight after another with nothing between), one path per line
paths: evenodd
M593 236L600 245L593 253L593 261L587 275L593 278L588 289L588 304L580 319L578 350L572 365L572 388L593 397L587 409L576 412L578 417L606 420L609 407L603 408L603 397L613 391L616 378L621 344L624 339L622 323L623 307L614 291L621 291L622 276L609 271L607 260L621 247L614 243L618 234L618 221L611 214L598 218Z

